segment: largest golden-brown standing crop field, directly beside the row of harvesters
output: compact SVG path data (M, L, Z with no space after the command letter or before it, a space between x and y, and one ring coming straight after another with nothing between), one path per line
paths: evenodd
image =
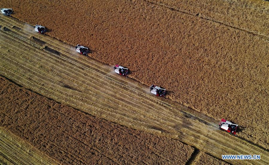
M244 17L252 10L240 3L234 2L236 11L247 14L239 14L239 22L248 24ZM255 5L248 3L250 8ZM13 16L20 20L45 25L55 38L92 47L95 53L90 56L101 62L130 68L131 78L166 87L172 100L217 120L234 121L242 128L240 137L268 148L268 37L140 0L1 1L0 5L14 8ZM255 7L257 11L261 6ZM267 8L261 11L267 13ZM268 36L268 14L263 13L253 13L263 26L253 26L252 31Z

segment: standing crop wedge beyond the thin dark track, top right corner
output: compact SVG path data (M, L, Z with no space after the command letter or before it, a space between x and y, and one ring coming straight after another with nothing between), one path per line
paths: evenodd
M206 0L145 0L170 10L198 16L247 33L269 38L269 2Z

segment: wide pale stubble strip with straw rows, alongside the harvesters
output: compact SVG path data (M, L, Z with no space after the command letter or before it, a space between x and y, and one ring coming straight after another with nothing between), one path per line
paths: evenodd
M20 28L24 26L12 18L1 19L8 20L1 22L6 27L12 27L12 21ZM218 121L148 94L144 85L112 74L111 67L74 53L75 49L69 45L27 31L18 33L16 29L1 29L0 34L0 74L25 88L133 129L179 139L216 158L223 153L260 154L261 160L247 161L253 164L269 161L267 150L218 130ZM32 43L32 37L61 55L44 51Z

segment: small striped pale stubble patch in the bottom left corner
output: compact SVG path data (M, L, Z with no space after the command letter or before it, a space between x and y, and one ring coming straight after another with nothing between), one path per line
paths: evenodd
M1 121L3 121L1 119ZM1 124L2 125L2 124ZM59 164L27 144L17 135L0 127L0 164Z

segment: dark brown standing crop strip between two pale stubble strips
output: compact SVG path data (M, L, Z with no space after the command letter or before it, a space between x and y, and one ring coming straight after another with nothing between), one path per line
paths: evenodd
M4 78L0 86L0 125L61 164L185 164L194 151L180 141L61 105Z

